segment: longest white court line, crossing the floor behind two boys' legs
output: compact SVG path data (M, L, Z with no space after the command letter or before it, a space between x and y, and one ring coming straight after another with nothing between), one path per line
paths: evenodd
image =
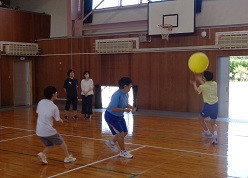
M3 127L4 127L4 126L3 126ZM19 129L19 128L15 128L15 127L5 127L5 128ZM27 130L27 129L19 129L19 130ZM34 131L34 130L28 130L28 131ZM77 136L77 135L66 135L66 134L60 134L60 135L68 136L68 137L85 138L85 139L89 139L89 140L107 141L107 140L105 140L105 139L90 138L90 137L82 137L82 136ZM148 147L148 148L156 148L156 149L170 150L170 151L179 151L179 152L186 152L186 153L194 153L194 154L208 155L208 156L227 157L226 155L217 155L217 154L203 153L203 152L197 152L197 151L180 150L180 149L176 149L176 148L166 148L166 147L159 147L159 146L152 146L152 145L142 145L142 144L135 144L135 143L125 143L125 144L136 145L136 146L144 146L144 147Z

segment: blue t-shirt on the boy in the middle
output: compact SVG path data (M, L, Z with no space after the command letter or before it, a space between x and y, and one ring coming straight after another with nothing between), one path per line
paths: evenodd
M128 105L128 93L123 93L121 89L117 90L111 97L111 101L107 108L107 111L115 116L122 117L123 112L114 112L112 107L126 108Z

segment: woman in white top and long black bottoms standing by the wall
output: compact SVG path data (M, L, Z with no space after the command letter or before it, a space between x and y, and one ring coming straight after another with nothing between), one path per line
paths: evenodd
M90 119L92 112L93 80L90 79L89 71L84 71L84 79L81 81L82 114L85 119Z

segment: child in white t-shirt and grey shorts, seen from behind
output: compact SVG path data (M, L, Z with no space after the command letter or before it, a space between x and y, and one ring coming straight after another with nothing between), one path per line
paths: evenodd
M59 109L53 103L57 99L57 90L53 86L48 86L44 89L46 99L42 99L37 106L38 120L36 125L36 134L41 142L45 145L43 152L38 153L38 157L43 164L47 164L46 154L52 150L55 145L59 145L65 153L65 163L76 161L72 155L69 155L67 146L63 137L53 128L53 119L63 123L60 118Z

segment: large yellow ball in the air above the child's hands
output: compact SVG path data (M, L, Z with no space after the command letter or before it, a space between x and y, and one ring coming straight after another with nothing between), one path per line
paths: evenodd
M204 72L208 68L208 64L207 55L201 52L192 54L188 61L189 69L195 74Z

